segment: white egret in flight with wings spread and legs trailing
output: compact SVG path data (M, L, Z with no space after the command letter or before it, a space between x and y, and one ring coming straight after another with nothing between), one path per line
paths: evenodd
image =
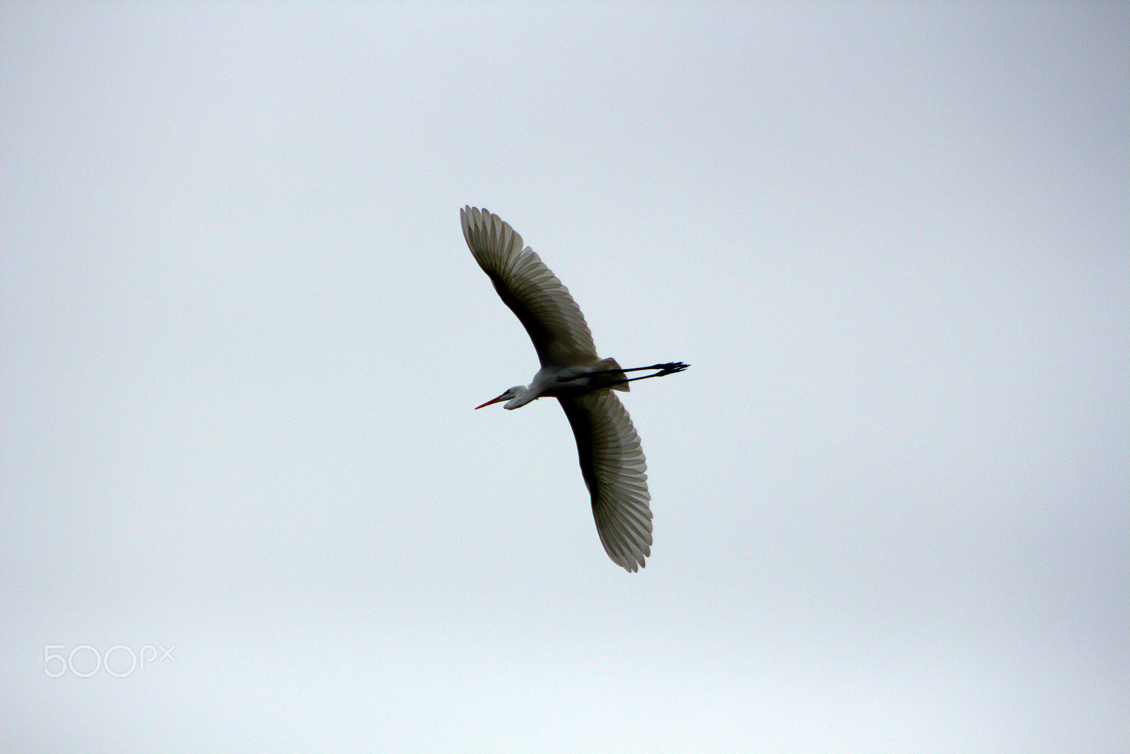
M621 369L615 359L601 359L581 308L568 289L549 271L522 237L487 210L459 211L463 238L495 290L525 327L541 368L527 385L515 385L492 403L506 401L518 409L539 397L555 397L576 438L581 474L592 498L592 515L605 552L628 571L644 567L651 555L651 508L647 465L640 436L612 391L628 383L683 371L681 361ZM629 371L652 371L628 377Z

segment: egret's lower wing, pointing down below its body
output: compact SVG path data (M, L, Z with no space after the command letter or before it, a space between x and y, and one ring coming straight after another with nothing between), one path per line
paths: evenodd
M629 571L651 554L647 464L640 436L611 389L557 398L576 437L581 473L605 552Z

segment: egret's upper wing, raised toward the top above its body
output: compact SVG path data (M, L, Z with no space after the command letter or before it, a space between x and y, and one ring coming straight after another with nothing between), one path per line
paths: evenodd
M459 214L475 261L530 334L542 366L596 361L581 308L533 249L522 248L522 237L487 210L467 207Z

